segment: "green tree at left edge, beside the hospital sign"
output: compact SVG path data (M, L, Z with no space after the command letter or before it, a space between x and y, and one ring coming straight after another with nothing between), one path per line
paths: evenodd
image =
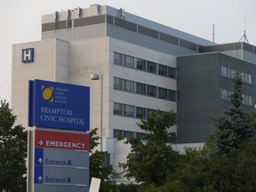
M26 191L26 157L28 134L15 125L9 103L0 107L0 191Z

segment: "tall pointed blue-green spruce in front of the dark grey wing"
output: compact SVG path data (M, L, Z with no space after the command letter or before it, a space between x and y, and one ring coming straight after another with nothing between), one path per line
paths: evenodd
M223 154L237 152L242 143L250 144L255 139L255 120L242 111L242 78L241 73L235 71L231 107L225 111L225 116L213 117L215 123L216 147Z

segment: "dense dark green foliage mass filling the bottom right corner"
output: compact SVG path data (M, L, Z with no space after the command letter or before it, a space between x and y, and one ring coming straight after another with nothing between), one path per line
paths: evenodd
M188 148L176 172L163 188L174 192L255 191L256 142L240 147L236 156L218 153L204 158L201 151Z

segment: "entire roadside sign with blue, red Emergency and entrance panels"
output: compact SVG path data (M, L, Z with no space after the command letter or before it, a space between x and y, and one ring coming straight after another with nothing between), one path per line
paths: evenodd
M29 81L28 192L88 192L90 89Z

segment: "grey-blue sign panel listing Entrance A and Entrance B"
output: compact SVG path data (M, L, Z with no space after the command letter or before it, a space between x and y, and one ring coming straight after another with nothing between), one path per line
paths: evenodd
M55 148L35 148L34 183L88 186L88 166L88 152Z

